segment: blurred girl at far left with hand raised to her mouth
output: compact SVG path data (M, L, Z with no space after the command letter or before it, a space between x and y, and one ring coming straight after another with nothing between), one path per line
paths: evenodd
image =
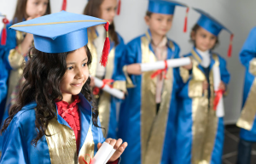
M10 31L9 27L15 23L32 20L45 14L50 14L49 0L19 0L17 1L14 19L5 27L7 31L7 37L4 38L6 39L6 44L0 45L0 54L3 55L3 63L9 71L7 110L9 109L11 94L19 84L20 76L22 75L21 65L25 62L24 59L26 59L28 49L32 47L33 43L32 34ZM15 97L15 93L13 93L12 97ZM6 112L8 112L7 110ZM2 116L3 114L0 120L2 120Z

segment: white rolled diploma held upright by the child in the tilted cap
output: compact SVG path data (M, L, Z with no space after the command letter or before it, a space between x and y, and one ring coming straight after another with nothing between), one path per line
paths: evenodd
M212 71L213 71L213 87L214 87L214 91L218 91L218 86L219 86L219 84L221 82L219 67L213 66ZM217 110L216 110L216 116L218 116L218 117L223 117L224 116L224 101L223 101L223 97L221 99L219 99L219 101L218 101Z

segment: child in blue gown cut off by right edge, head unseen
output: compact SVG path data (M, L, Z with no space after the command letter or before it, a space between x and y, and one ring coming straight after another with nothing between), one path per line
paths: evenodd
M241 117L236 125L241 127L238 146L237 164L251 163L251 151L256 142L255 127L255 65L256 65L256 28L249 33L246 42L241 48L240 61L246 68L245 83L243 88Z

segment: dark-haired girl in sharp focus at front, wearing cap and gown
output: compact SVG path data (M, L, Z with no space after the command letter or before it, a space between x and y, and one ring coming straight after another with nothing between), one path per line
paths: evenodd
M33 34L35 48L17 103L3 125L1 162L84 164L95 155L104 138L98 110L91 106L87 28L106 22L62 11L11 26ZM102 58L104 53L105 48ZM109 161L117 162L127 143L106 142L117 150Z

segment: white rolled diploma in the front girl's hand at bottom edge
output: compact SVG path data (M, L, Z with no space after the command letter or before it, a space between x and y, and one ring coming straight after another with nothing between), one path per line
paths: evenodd
M112 153L113 146L104 142L91 161L91 164L106 164L108 156ZM108 159L109 160L109 159Z

